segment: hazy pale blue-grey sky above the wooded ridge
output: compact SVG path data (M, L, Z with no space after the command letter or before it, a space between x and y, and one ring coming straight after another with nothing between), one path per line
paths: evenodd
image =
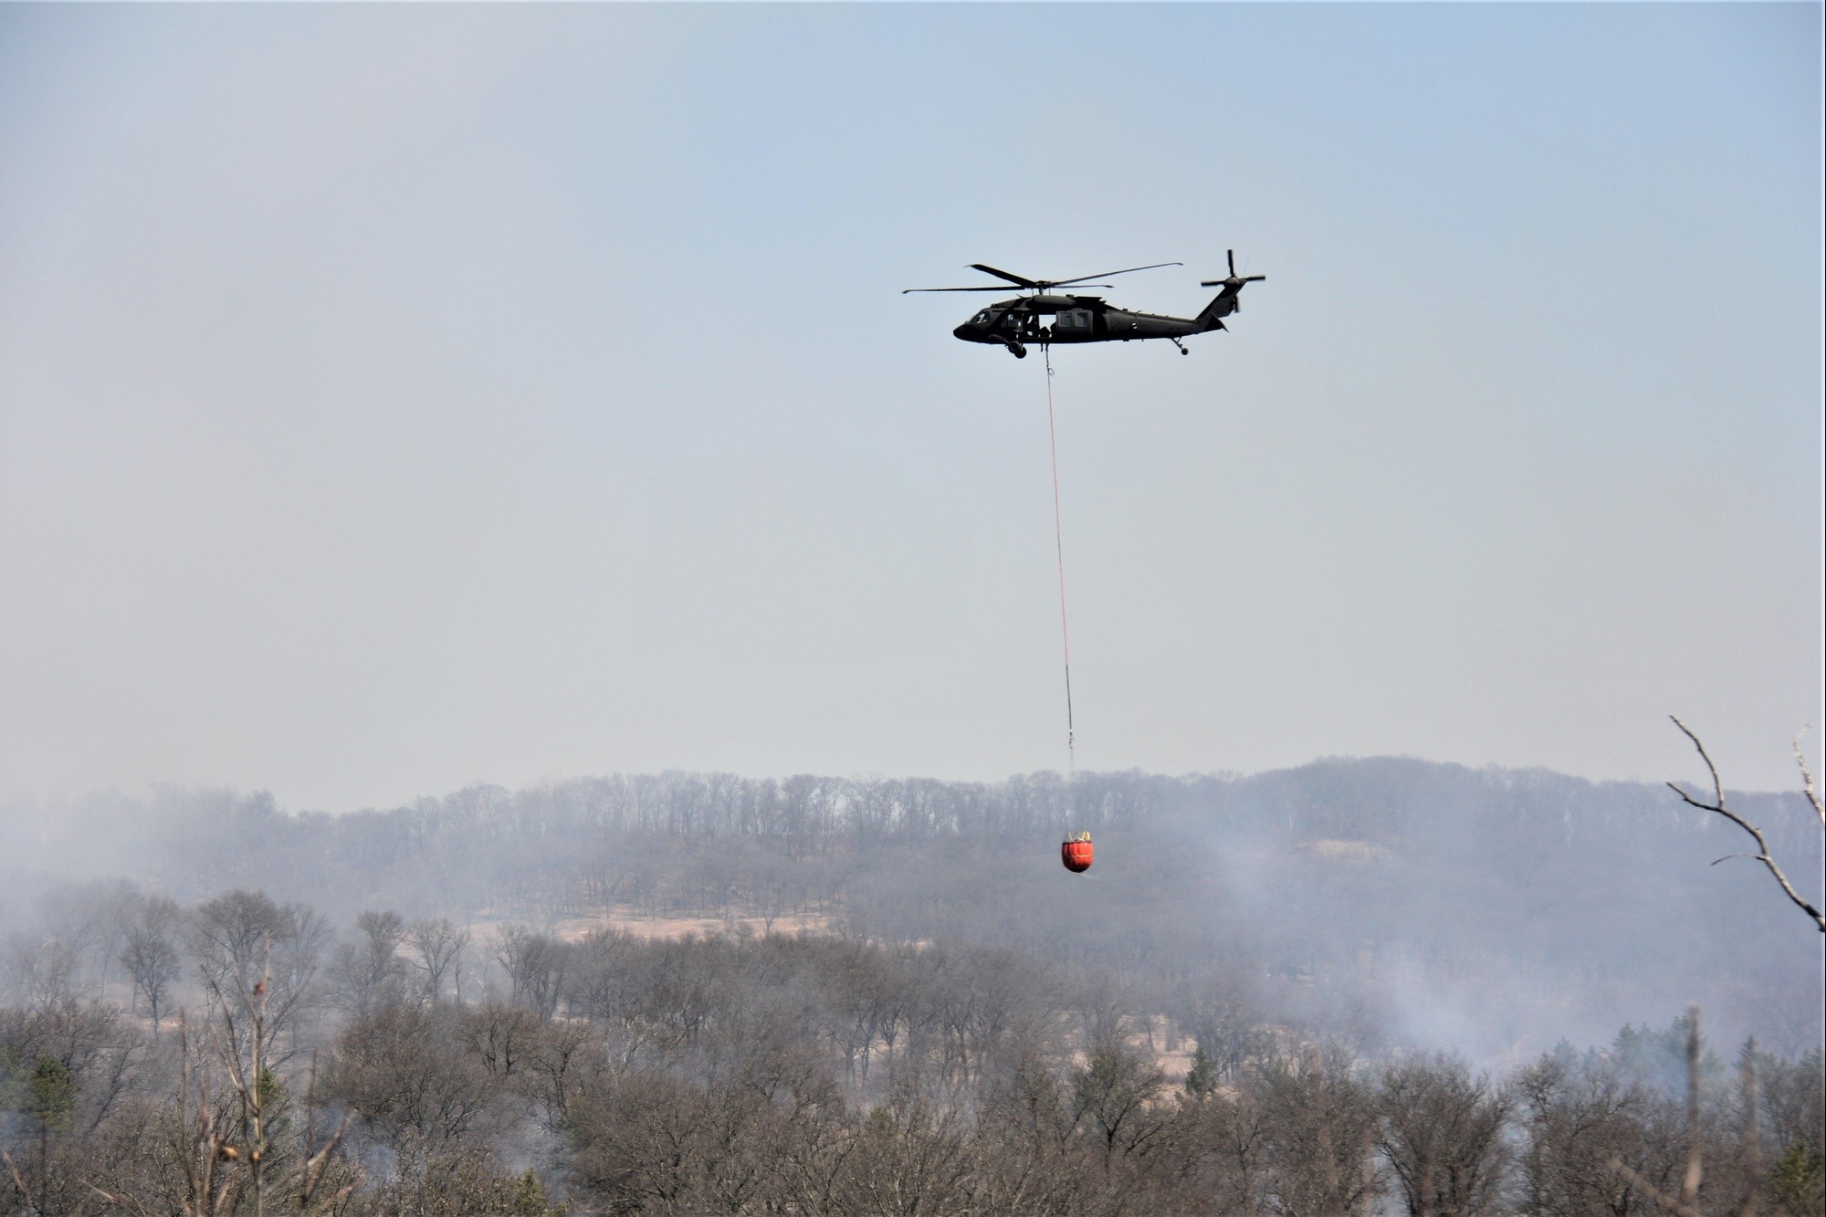
M0 7L0 797L1789 788L1821 5ZM1817 736L1815 736L1817 738ZM1817 753L1815 753L1817 755Z

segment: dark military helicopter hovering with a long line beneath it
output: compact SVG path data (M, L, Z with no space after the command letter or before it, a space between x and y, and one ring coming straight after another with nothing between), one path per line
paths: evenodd
M1198 316L1160 316L1156 312L1132 312L1107 303L1101 296L1079 296L1076 292L1054 292L1059 287L1110 287L1108 283L1090 283L1088 280L1107 280L1116 274L1136 270L1158 270L1160 267L1180 267L1180 261L1156 261L1150 267L1128 267L1127 270L1099 270L1081 274L1076 280L1028 280L1008 274L995 267L971 263L971 270L993 274L1023 287L1032 296L1015 300L997 300L988 309L977 312L951 333L964 342L1001 344L1017 358L1026 358L1028 344L1048 345L1054 342L1134 342L1138 338L1165 338L1180 347L1180 355L1191 355L1181 338L1203 334L1212 329L1225 329L1223 318L1242 312L1244 283L1258 283L1265 274L1236 274L1236 250L1229 250L1231 274L1222 280L1205 280L1200 287L1222 287L1216 298L1203 307ZM1001 283L992 287L909 287L908 292L1004 292ZM1046 325L1041 318L1052 318Z

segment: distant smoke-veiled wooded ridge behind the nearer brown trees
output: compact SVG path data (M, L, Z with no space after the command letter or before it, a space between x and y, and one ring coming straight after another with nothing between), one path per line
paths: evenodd
M1742 799L1797 875L1819 873L1799 795ZM1729 824L1649 784L1375 758L1006 782L665 773L341 817L164 789L66 811L0 850L0 936L88 866L91 890L261 888L341 921L385 906L542 934L692 917L966 939L1119 974L1161 1012L1218 976L1276 1018L1479 1056L1592 1040L1695 994L1733 1038L1821 1038L1806 926L1753 862L1711 866L1740 852ZM1074 877L1057 842L1077 830L1099 861ZM64 921L62 939L99 932Z

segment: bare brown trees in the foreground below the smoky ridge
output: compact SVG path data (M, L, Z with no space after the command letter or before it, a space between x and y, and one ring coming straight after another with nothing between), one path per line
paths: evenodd
M1821 1215L1819 1049L1696 1014L1492 1074L1010 943L68 903L7 959L0 1213Z

